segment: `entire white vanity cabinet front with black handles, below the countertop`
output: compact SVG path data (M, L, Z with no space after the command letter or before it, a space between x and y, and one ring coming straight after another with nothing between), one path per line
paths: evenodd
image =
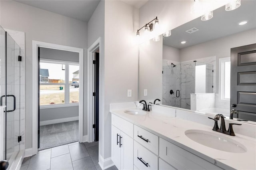
M119 170L221 169L114 114L112 114L112 161Z

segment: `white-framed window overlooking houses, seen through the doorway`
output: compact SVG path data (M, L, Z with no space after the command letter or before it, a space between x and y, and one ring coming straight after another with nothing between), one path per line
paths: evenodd
M40 107L72 106L79 102L79 64L40 61Z

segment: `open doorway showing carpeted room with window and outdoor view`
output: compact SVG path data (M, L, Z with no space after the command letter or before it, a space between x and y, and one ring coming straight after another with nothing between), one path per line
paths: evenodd
M79 53L38 47L38 150L78 141Z

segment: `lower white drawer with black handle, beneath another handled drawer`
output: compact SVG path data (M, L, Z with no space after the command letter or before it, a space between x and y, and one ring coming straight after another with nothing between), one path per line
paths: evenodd
M142 170L157 170L158 157L134 141L134 165Z

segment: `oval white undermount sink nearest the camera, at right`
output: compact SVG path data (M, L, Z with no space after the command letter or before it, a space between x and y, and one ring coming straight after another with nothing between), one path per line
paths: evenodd
M191 140L210 148L233 153L244 153L247 151L246 147L236 140L228 138L227 136L218 135L214 132L186 130L185 134Z

